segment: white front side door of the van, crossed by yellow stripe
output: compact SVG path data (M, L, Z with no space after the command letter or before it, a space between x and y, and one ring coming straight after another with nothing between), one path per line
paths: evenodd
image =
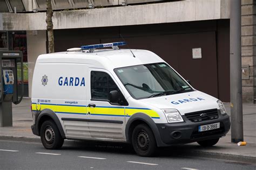
M120 92L117 83L104 69L89 69L89 75L90 88L86 96L91 137L125 139L125 108L109 102L110 91Z

